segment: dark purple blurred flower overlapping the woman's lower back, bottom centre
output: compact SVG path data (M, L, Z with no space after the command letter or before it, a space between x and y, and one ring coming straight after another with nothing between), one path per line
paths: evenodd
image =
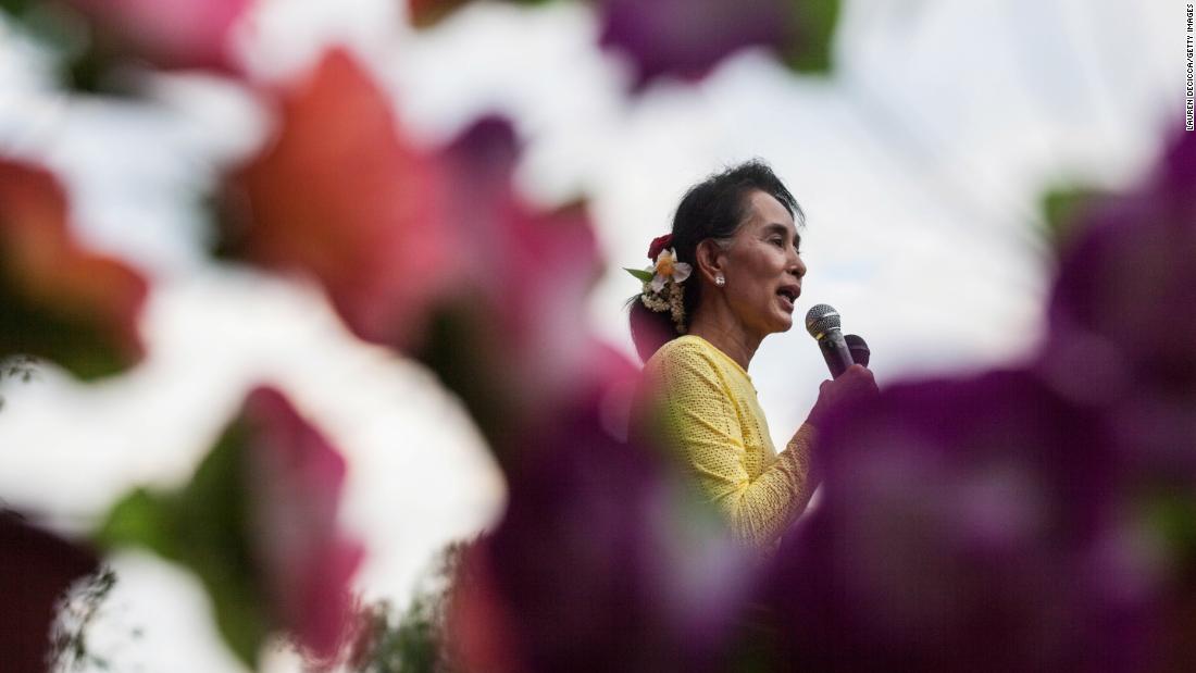
M465 668L716 669L748 551L660 454L611 433L602 391L617 381L586 387L530 428L506 515L469 552L450 632Z

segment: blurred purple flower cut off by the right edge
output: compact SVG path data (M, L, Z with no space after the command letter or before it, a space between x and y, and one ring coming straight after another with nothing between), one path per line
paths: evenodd
M1105 406L1128 455L1196 483L1196 136L1141 188L1091 204L1050 299L1038 363Z

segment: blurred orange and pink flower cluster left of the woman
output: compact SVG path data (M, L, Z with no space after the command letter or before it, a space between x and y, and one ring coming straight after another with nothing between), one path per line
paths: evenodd
M341 50L281 99L276 137L227 182L222 253L315 279L359 337L422 357L492 438L572 385L597 241L580 206L518 194L507 122L419 148Z

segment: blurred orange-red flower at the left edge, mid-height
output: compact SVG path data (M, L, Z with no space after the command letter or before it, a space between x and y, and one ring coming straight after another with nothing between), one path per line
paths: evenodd
M77 375L144 355L138 318L148 283L75 243L67 198L43 169L0 160L0 357L25 353Z

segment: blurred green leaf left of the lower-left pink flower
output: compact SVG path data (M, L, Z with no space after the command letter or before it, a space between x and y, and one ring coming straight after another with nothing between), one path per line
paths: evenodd
M246 530L245 443L245 428L233 424L191 483L171 494L129 494L109 514L98 542L148 549L194 571L212 596L220 635L254 667L269 614Z

